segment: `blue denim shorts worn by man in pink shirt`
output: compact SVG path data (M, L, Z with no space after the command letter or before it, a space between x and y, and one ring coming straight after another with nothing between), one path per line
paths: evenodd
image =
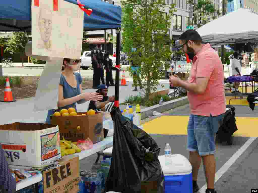
M223 122L224 114L218 116L190 115L187 126L187 150L199 155L215 153L215 134Z

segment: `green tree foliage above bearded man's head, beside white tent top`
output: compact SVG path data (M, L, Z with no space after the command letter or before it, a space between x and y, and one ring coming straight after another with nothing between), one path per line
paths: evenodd
M197 23L198 20L198 28L208 23L211 19L216 19L213 14L219 12L215 10L213 2L209 0L198 0L196 4L194 4L193 0L188 0L188 3L195 5L194 23Z

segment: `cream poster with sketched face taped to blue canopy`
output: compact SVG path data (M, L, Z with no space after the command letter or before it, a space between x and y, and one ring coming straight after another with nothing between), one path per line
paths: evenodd
M31 1L32 54L79 58L83 16L78 5L64 0Z

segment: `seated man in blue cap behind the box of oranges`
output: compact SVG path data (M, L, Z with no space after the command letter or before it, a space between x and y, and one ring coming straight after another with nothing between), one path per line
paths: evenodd
M90 101L88 110L93 109L95 112L98 111L110 111L110 105L106 106L108 103L112 103L111 106L114 105L115 96L108 96L108 86L105 84L101 84L98 86L97 93L103 96L103 99L99 102Z

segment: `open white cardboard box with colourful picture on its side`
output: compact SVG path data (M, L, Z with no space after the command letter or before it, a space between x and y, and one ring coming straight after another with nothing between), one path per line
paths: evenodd
M61 158L57 125L20 122L0 125L0 143L11 165L39 167Z

